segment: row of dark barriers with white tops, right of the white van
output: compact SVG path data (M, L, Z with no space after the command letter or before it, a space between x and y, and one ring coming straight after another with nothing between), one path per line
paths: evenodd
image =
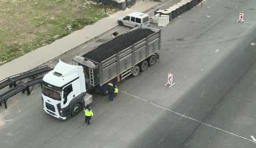
M175 17L181 15L185 11L190 10L196 6L202 0L181 0L177 4L167 8L167 9L156 9L154 15L159 13L160 15L169 15L169 21Z

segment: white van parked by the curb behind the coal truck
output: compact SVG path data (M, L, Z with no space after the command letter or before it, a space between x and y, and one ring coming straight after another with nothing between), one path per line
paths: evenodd
M149 26L149 16L145 13L132 12L117 20L119 25L135 27L138 25Z

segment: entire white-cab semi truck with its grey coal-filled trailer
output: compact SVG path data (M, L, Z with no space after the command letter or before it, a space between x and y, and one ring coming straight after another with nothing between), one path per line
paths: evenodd
M137 26L121 34L123 35L122 38L128 35L126 33L136 29L150 29L151 34L139 41L135 42L133 40L135 43L130 46L126 44L129 47L118 49L119 52L100 62L97 62L99 60L96 57L97 55L94 54L91 55L97 61L86 58L86 54L100 49L97 48L100 45L75 56L72 59L72 65L59 60L54 69L44 75L42 79L41 99L44 112L60 120L76 116L86 104L92 102L92 96L87 93L88 91L95 90L107 95L109 81L116 77L118 80L122 80L129 75L135 77L139 74L139 71L146 70L148 65L154 65L156 59L159 59L156 52L161 49L161 30L153 27ZM111 40L118 39L118 37L121 36ZM101 47L102 45L104 47L111 40L101 44ZM121 47L121 44L115 47L117 49L117 47ZM108 51L110 50L111 48L108 49Z

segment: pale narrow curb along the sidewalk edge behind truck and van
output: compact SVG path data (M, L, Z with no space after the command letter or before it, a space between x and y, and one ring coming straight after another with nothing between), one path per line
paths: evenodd
M165 2L167 2L167 1L169 1L169 0L162 0L161 2L157 3L156 5L160 5L160 4L165 3ZM154 5L153 7L155 8L156 5ZM160 7L160 6L159 6L159 7ZM150 7L150 8L148 8L148 9L142 11L142 13L147 12L147 11L149 11L149 10L151 10L151 9L152 9L152 7ZM115 26L113 26L112 28L110 28L110 29L108 29L108 30L106 30L106 31L104 31L104 32L102 32L102 33L96 35L95 37L90 38L89 40L87 40L87 41L85 41L85 42L83 42L83 43L81 43L81 44L79 44L79 45L77 45L77 46L75 46L75 47L73 47L73 48L71 48L71 49L65 51L64 53L59 54L59 55L56 56L56 57L59 57L59 56L61 56L61 55L63 55L63 54L66 54L67 52L69 52L69 51L71 51L71 50L73 50L73 49L75 49L75 48L78 48L78 47L80 47L80 46L83 46L84 44L90 42L91 40L96 39L97 36L100 36L100 35L102 35L102 34L108 32L109 30L111 30L111 29L117 27L117 26L118 26L118 24L115 25ZM37 68L37 67L39 67L39 66L41 66L41 65L44 65L45 63L48 63L49 61L53 61L54 59L56 59L56 57L54 57L54 58L52 58L52 59L49 59L49 60L47 60L46 62L43 62L42 64L36 66L35 68Z

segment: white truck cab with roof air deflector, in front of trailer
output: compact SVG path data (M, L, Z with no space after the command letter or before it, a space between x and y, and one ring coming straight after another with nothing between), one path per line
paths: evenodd
M92 102L86 94L82 66L69 65L61 60L42 79L43 110L58 119L76 116L85 104Z

